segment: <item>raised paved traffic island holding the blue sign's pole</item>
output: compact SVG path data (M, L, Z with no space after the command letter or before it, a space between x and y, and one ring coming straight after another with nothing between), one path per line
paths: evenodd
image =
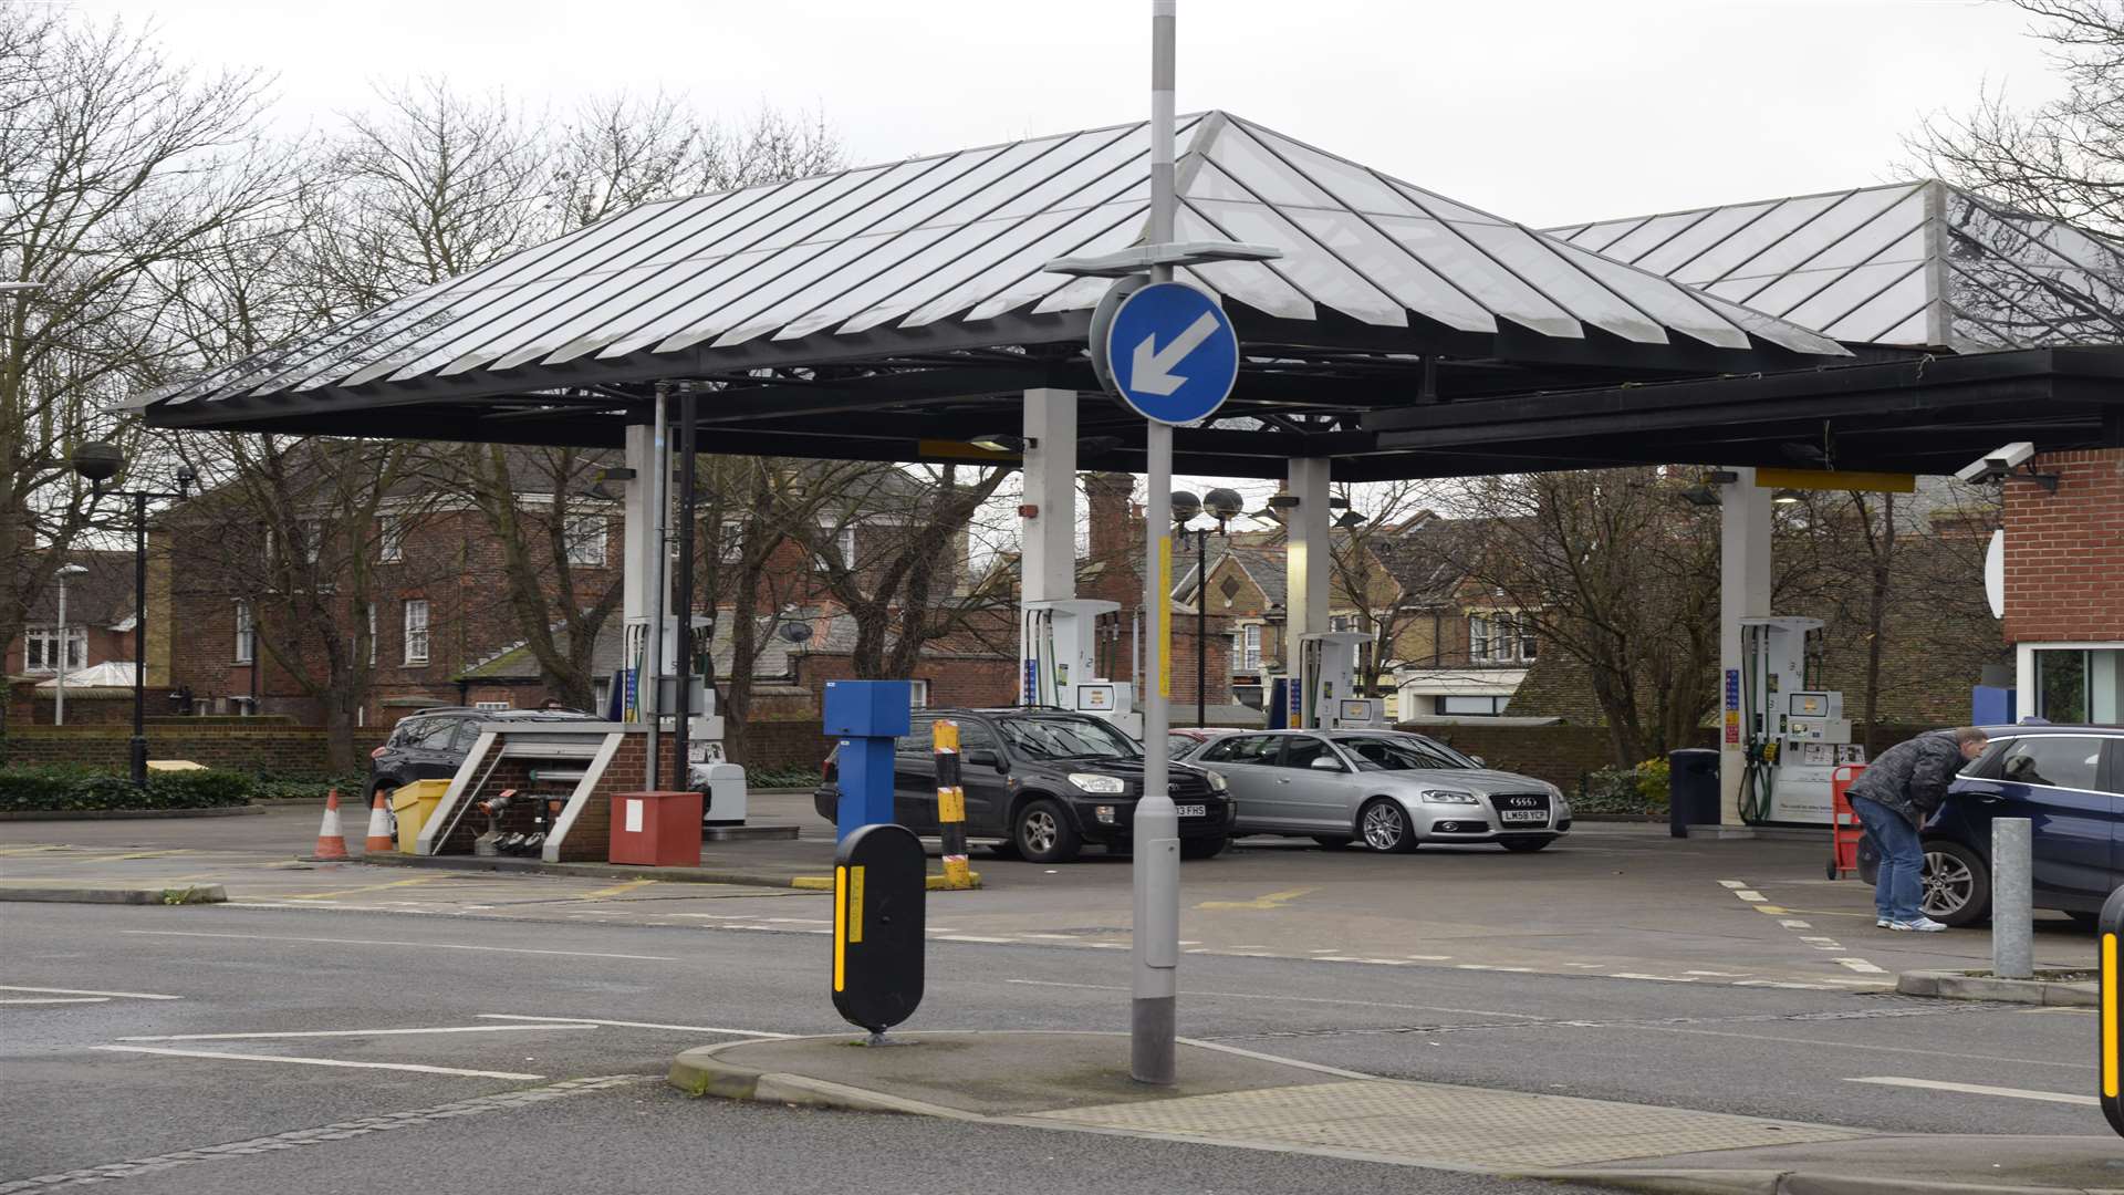
M1389 1080L1215 1042L1179 1082L1128 1076L1119 1033L845 1033L680 1053L690 1095L1143 1135L1642 1191L2124 1189L2107 1138L1882 1135L1570 1095ZM1971 1182L1975 1180L1975 1182Z

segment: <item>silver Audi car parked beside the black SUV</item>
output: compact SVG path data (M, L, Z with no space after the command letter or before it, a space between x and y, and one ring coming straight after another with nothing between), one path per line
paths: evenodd
M1572 827L1563 791L1491 772L1451 746L1393 729L1272 729L1213 738L1189 763L1219 772L1238 806L1234 834L1294 834L1321 846L1495 842L1540 851Z

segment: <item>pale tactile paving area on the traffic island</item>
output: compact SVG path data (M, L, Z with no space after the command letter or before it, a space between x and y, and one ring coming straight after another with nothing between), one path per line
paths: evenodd
M1718 1112L1395 1080L1319 1082L1064 1108L1037 1112L1034 1118L1138 1133L1525 1167L1871 1135L1858 1129Z

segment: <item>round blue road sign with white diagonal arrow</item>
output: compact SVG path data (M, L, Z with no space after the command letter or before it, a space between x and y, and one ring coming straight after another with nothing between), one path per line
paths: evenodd
M1194 423L1223 406L1238 381L1238 332L1217 298L1187 283L1128 293L1107 321L1107 376L1136 415Z

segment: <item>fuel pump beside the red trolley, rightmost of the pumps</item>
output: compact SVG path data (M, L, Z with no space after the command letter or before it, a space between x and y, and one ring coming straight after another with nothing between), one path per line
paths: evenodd
M1852 746L1844 693L1818 689L1814 659L1820 619L1742 619L1740 702L1746 736L1742 821L1829 825L1829 782L1837 763L1865 763Z

